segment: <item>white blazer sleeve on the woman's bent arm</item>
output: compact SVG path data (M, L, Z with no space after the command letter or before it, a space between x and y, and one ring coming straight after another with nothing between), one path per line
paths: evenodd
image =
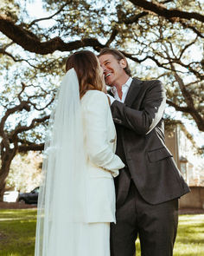
M111 109L104 93L96 91L92 93L86 104L86 150L87 155L97 167L110 171L113 176L118 174L118 169L124 167L124 163L118 155L112 152L108 141L107 114Z

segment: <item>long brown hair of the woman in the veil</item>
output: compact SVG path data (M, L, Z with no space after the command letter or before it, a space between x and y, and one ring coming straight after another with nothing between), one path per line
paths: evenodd
M100 77L99 61L92 51L80 50L68 56L66 71L75 69L80 84L80 98L87 90L103 90L103 82Z

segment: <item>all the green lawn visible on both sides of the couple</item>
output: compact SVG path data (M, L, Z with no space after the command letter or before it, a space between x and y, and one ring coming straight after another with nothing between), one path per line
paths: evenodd
M180 215L174 256L204 255L204 214ZM33 256L35 209L0 210L0 255ZM137 256L139 242L137 241Z

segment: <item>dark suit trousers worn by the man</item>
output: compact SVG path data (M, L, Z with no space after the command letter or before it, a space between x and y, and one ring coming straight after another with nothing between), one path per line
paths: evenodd
M178 225L178 199L150 205L133 181L124 204L111 224L111 256L136 255L140 240L142 256L172 256Z

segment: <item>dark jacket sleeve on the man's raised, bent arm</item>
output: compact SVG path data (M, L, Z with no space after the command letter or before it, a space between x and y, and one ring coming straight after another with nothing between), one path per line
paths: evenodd
M147 135L161 121L166 105L166 95L162 82L150 84L143 99L141 110L127 107L124 103L112 103L112 117L119 125L130 128L138 135Z

